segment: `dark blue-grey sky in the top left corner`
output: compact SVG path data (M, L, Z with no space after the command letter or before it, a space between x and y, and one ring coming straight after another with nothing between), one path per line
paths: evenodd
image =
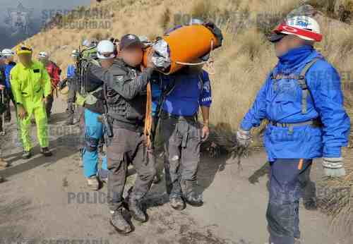
M11 48L37 33L42 23L56 11L88 6L91 0L0 0L0 49ZM18 5L23 9L18 11ZM15 18L18 13L22 18ZM19 21L15 21L19 19ZM23 28L26 27L26 28Z

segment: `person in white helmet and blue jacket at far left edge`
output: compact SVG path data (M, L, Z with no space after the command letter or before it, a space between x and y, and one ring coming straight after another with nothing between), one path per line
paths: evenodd
M13 56L15 55L15 53L11 49L4 49L1 51L1 53L5 58L4 75L5 75L5 87L6 87L6 107L7 107L5 112L5 121L10 122L11 121L10 100L16 111L16 102L12 94L11 82L10 82L11 69L14 66L16 66L16 63L13 61Z

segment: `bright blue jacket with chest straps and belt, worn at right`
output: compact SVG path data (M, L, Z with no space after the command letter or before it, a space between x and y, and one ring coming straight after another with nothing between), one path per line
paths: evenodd
M306 83L311 96L307 98L307 114L301 114L301 88L294 79L277 81L277 74L299 75L306 63L320 57L306 73ZM279 57L279 62L268 75L248 111L241 128L250 130L259 126L263 118L279 123L299 123L320 118L323 127L294 126L288 128L268 125L264 144L270 161L275 159L313 159L316 157L341 157L341 147L346 146L350 130L349 116L343 107L340 76L313 47L304 45Z

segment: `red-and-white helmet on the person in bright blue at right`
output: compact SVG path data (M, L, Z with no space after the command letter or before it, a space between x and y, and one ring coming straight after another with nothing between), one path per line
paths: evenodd
M301 39L314 42L321 42L323 39L318 22L309 16L287 18L284 22L280 23L280 25L277 25L273 32L285 35L296 35Z

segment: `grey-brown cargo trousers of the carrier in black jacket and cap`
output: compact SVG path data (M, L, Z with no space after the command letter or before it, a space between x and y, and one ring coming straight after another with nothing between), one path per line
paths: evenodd
M122 207L128 164L137 172L130 198L141 200L152 185L155 176L155 158L144 146L142 129L128 130L113 123L114 137L107 143L108 204L116 211Z

